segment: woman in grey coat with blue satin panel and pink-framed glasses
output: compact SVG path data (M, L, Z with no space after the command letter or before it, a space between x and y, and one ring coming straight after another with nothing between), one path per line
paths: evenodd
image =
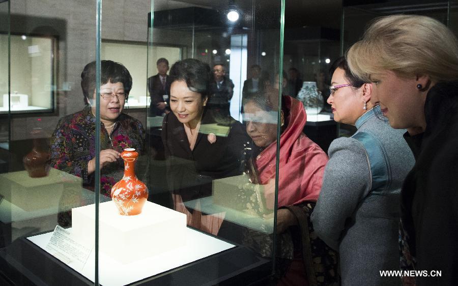
M398 277L379 271L399 268L399 193L414 157L404 131L392 129L374 102L373 84L354 77L344 58L330 71L334 120L358 130L331 143L311 221L339 251L342 285L397 285Z

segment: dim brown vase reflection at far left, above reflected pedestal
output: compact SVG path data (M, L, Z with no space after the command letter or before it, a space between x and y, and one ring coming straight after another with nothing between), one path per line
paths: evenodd
M32 131L34 147L32 151L22 158L24 168L31 178L46 177L49 173L49 152L46 148L45 139L38 138L42 134L41 128Z

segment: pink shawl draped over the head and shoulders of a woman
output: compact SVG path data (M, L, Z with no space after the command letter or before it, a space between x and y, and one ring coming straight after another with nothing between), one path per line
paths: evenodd
M295 205L303 201L316 202L320 194L328 156L303 132L307 115L302 102L285 97L290 114L285 118L287 129L280 136L278 180L278 207ZM275 187L276 141L256 158L261 184L265 186L266 203L273 208Z

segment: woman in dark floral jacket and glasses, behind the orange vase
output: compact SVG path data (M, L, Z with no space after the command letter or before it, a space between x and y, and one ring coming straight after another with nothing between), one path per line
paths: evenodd
M124 148L144 151L145 131L140 121L124 114L132 88L129 71L119 62L101 61L100 122L96 122L96 62L81 73L85 107L63 117L51 138L51 166L81 177L83 186L94 188L94 172L100 168L101 193L110 196L113 184L124 172L120 154ZM100 124L100 161L95 165L95 128Z

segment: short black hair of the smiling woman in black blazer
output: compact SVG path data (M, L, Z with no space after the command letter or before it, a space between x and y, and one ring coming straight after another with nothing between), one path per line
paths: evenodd
M194 58L179 60L171 67L170 76L174 81L186 82L189 90L201 93L203 98L210 95L212 73L205 62Z

